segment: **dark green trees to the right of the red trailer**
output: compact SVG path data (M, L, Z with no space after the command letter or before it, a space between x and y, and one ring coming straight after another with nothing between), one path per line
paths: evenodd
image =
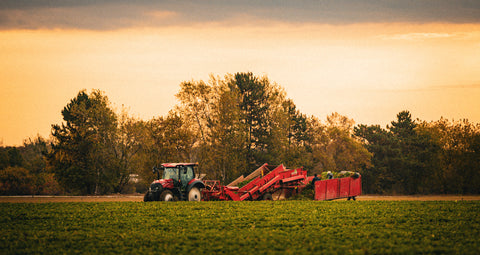
M373 154L362 171L367 193L479 194L480 125L413 121L408 111L387 129L359 125L354 135Z

